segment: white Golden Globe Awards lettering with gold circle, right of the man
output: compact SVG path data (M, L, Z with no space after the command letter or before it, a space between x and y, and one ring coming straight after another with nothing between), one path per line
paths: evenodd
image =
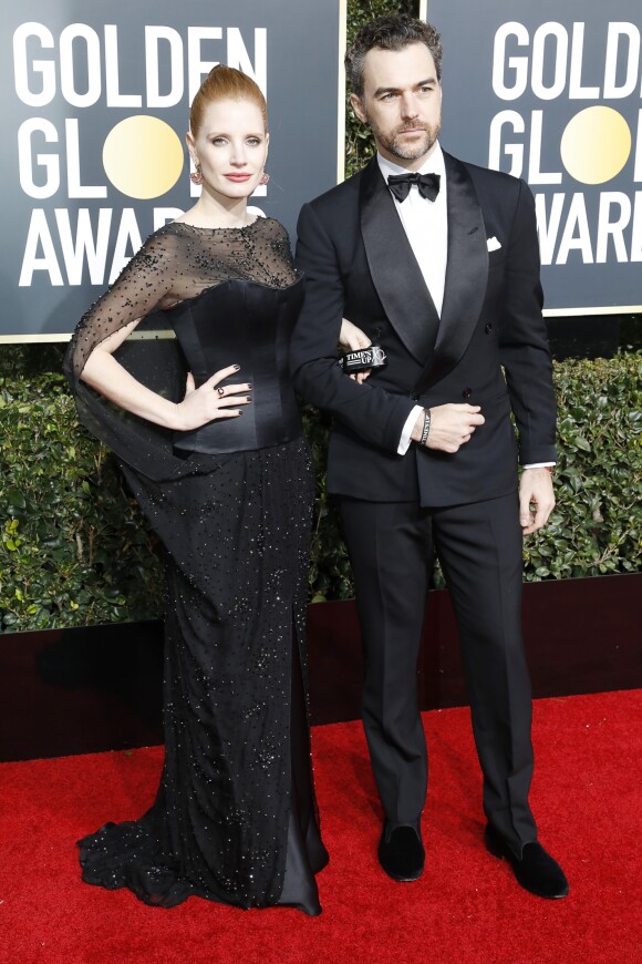
M628 21L604 24L599 83L594 51L587 63L584 30L582 22L553 21L534 30L517 21L497 29L495 95L516 105L535 98L542 106L495 114L488 166L522 176L532 187L543 265L565 265L570 257L584 265L613 257L642 261L642 189L631 191L642 183L640 30ZM619 175L617 189L610 182ZM569 177L580 189L561 189Z

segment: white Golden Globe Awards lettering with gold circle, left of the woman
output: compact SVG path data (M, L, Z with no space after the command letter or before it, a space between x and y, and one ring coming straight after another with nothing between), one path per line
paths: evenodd
M187 129L188 103L216 63L266 91L266 28L138 30L135 62L122 25L29 21L13 32L14 93L29 114L17 132L19 187L33 205L19 242L21 288L111 283L142 238L184 209L167 195L178 187L183 203L198 189L176 131ZM149 212L158 198L165 206Z

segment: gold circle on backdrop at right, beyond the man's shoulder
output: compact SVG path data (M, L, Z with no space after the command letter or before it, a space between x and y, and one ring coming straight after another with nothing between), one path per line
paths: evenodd
M582 184L603 184L620 173L631 153L631 131L622 114L596 105L576 114L561 139L565 167Z

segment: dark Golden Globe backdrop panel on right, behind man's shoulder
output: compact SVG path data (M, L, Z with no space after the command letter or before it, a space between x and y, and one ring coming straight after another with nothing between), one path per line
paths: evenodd
M640 0L428 0L443 145L528 181L547 314L642 311Z

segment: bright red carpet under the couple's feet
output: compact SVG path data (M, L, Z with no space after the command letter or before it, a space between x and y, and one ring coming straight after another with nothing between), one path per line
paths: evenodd
M81 883L73 845L152 801L162 751L0 765L0 961L11 964L623 964L640 951L642 693L539 700L531 801L571 894L524 892L482 843L466 709L424 717L431 748L426 872L395 884L375 857L379 811L359 724L314 730L323 914L172 911Z

